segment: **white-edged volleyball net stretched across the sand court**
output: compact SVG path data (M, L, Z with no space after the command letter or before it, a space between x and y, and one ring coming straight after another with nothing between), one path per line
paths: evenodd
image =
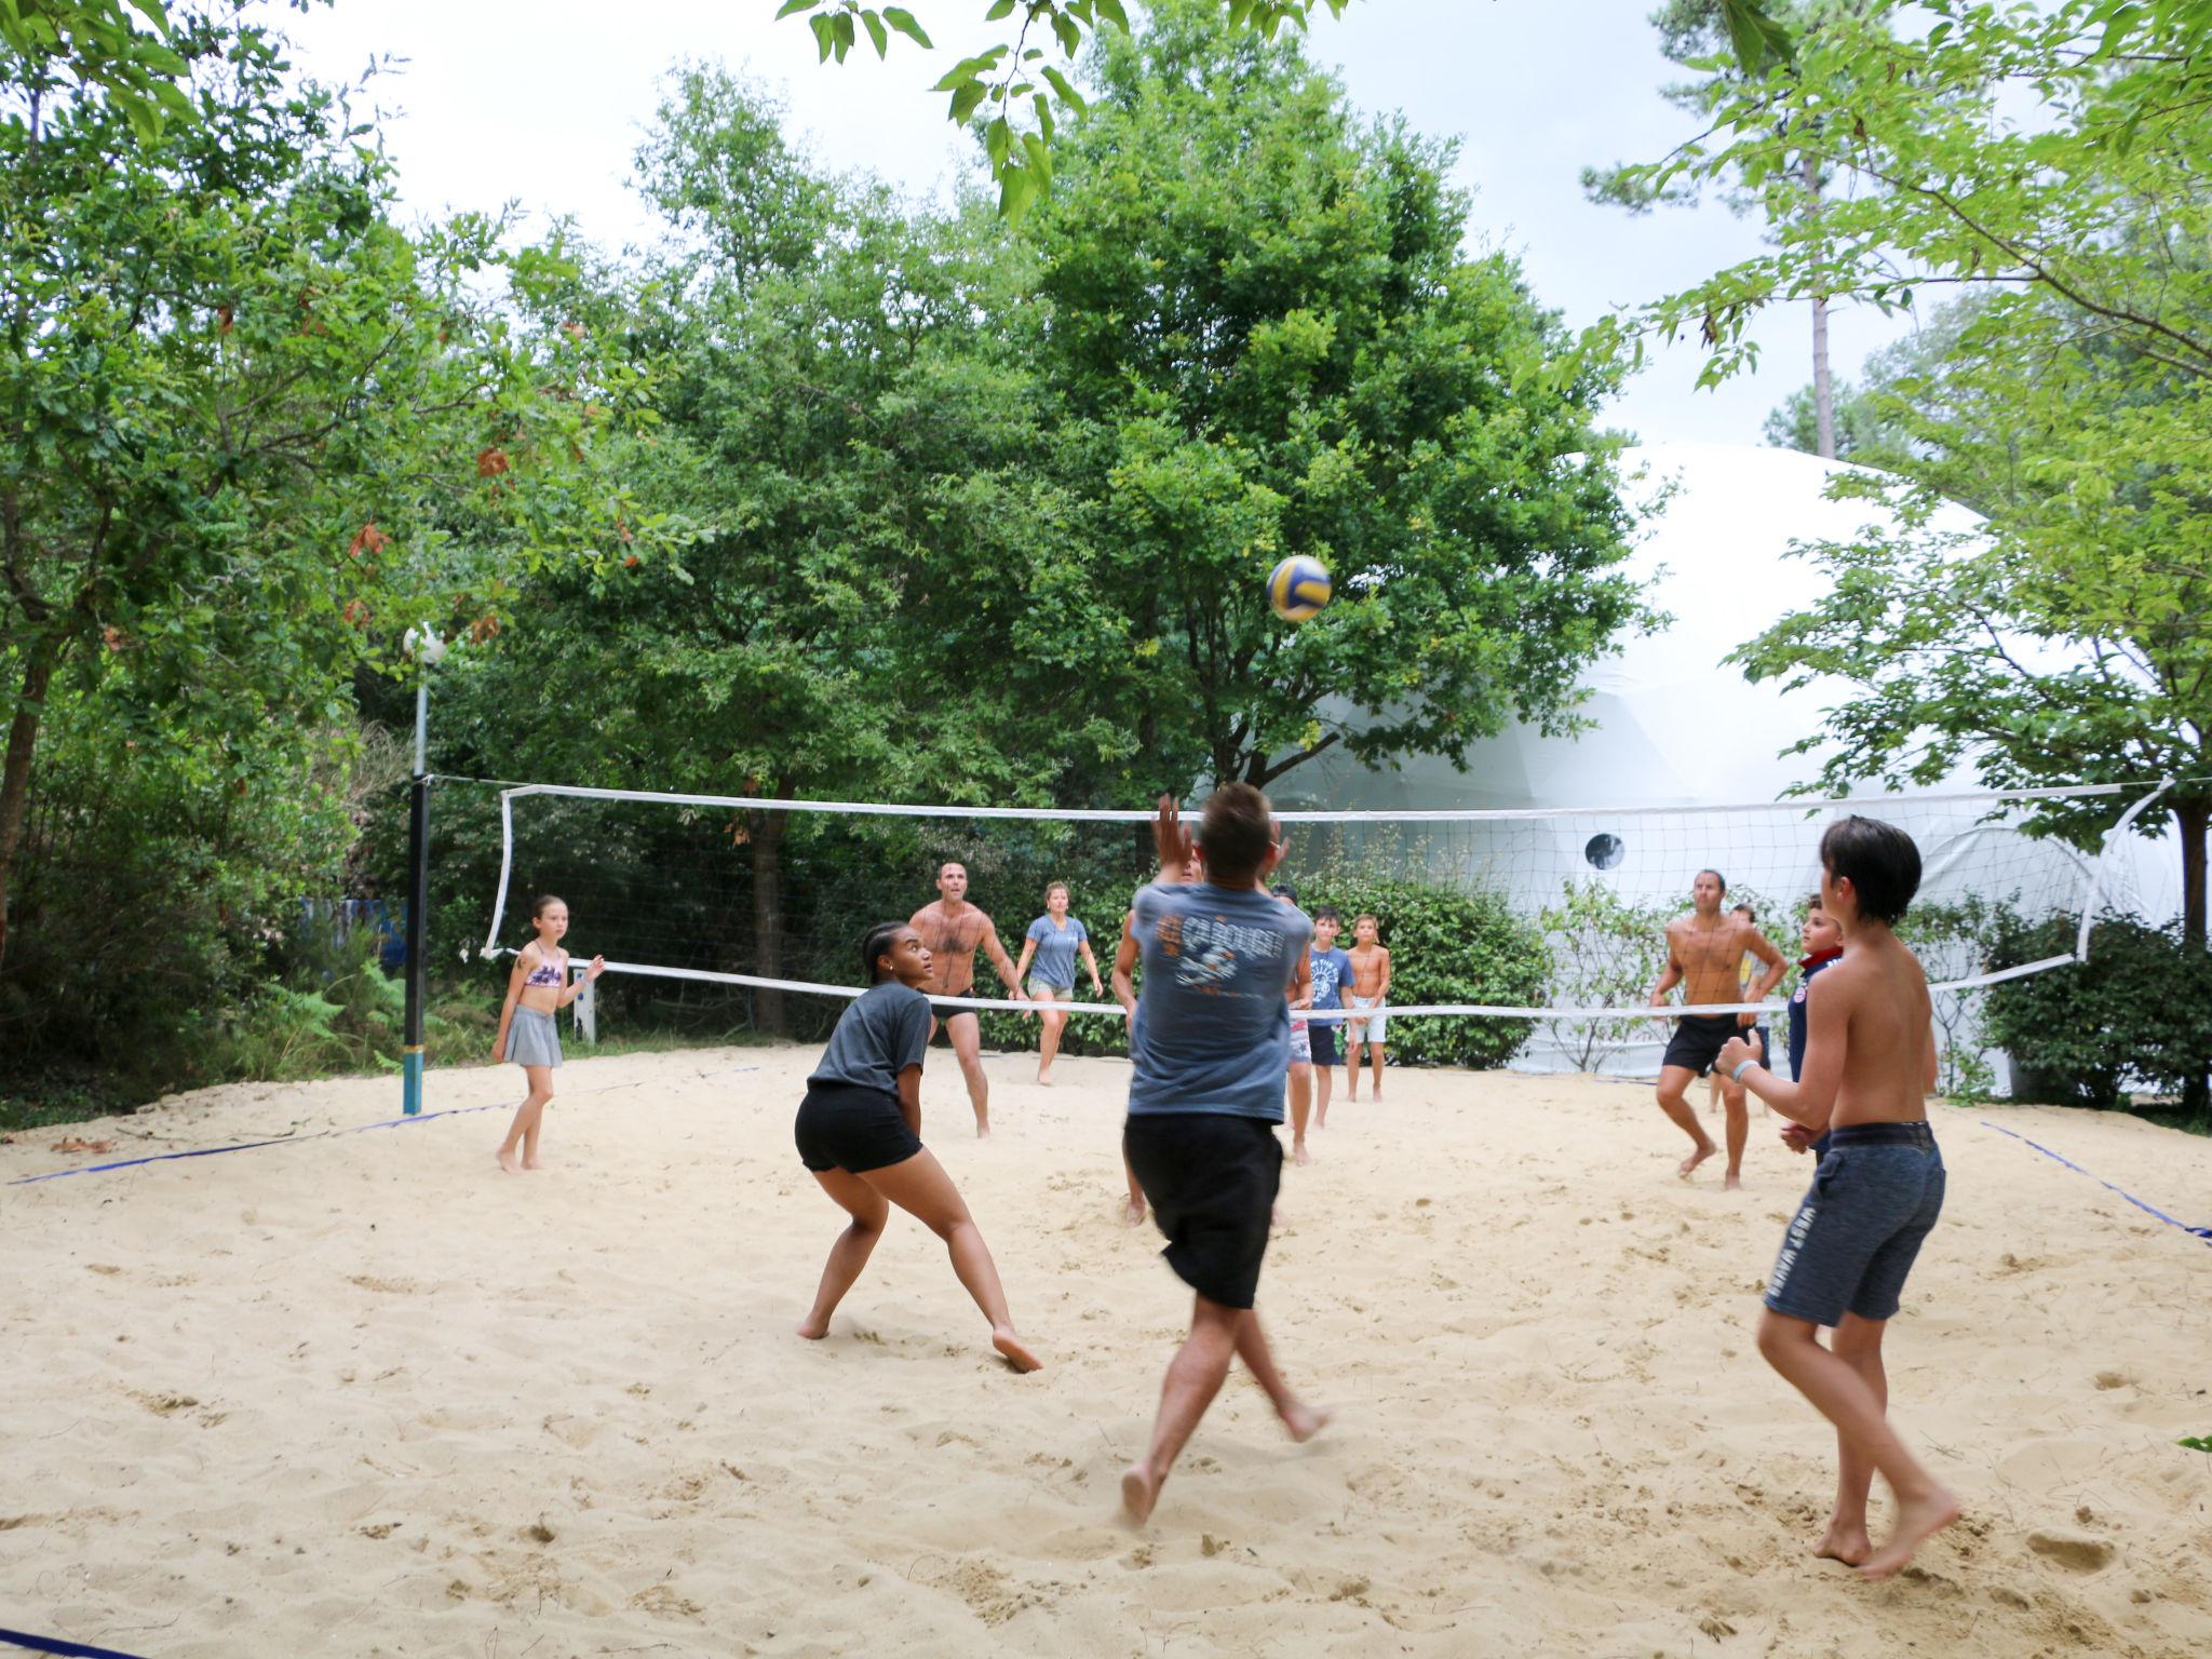
M2106 799L2112 830L2084 852L2028 834L2037 810ZM1666 967L1663 929L1690 909L1701 869L1728 883L1723 907L1747 905L1783 960L1818 889L1820 834L1845 814L1898 825L1920 847L1922 885L1905 936L1920 951L1938 1013L1958 1024L1969 993L2081 960L2090 920L2128 907L2128 825L2154 799L2139 785L2017 794L1947 792L1732 807L1584 807L1504 812L1281 812L1287 854L1270 880L1307 911L1334 907L1343 945L1371 914L1391 949L1391 1051L1449 1064L1606 1071L1663 1042L1663 1020L1732 1013L1756 1002L1652 1009ZM938 898L958 863L967 902L993 920L1018 962L1046 887L1068 887L1099 973L1121 918L1157 860L1152 814L969 805L768 801L520 785L500 794L500 874L482 953L531 938L538 894L573 918L568 949L604 956L611 973L726 987L745 1020L781 1035L818 1035L865 978L858 940ZM2079 918L2075 949L2000 962L2008 922ZM2020 936L2017 927L2011 933ZM1754 973L1745 969L1745 987ZM1113 1048L1119 1009L1077 971L1077 1048L1088 1031ZM1006 993L989 951L975 987L938 998L975 1009L1020 1042L1026 1004ZM1778 1009L1770 1009L1776 1011ZM1958 1033L1953 1033L1958 1035Z

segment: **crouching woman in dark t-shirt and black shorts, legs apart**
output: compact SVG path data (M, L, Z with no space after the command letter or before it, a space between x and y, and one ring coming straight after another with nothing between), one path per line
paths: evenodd
M838 1015L821 1064L807 1077L792 1124L799 1161L849 1217L823 1265L814 1307L799 1334L821 1340L830 1316L860 1276L896 1203L945 1241L953 1272L991 1321L991 1347L1015 1371L1042 1360L1006 1312L998 1265L945 1166L922 1146L922 1055L929 1051L929 947L902 922L878 922L860 940L869 989Z

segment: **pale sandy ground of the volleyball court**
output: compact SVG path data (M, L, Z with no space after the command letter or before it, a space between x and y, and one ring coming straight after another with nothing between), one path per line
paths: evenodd
M504 1068L407 1128L0 1188L0 1624L241 1655L2208 1655L2212 1141L1942 1110L1951 1208L1891 1329L1966 1498L1902 1579L1805 1555L1832 1440L1752 1347L1805 1164L1747 1194L1644 1088L1400 1073L1285 1175L1261 1285L1307 1447L1237 1374L1115 1520L1188 1296L1117 1221L1128 1071L991 1057L925 1135L1051 1367L1009 1374L896 1219L825 1343L812 1051L568 1064L504 1177ZM230 1088L69 1130L117 1157L387 1117ZM1772 1124L1774 1119L1767 1119ZM1717 1124L1717 1119L1714 1119ZM73 1164L62 1133L0 1175ZM1878 1526L1882 1515L1876 1517Z

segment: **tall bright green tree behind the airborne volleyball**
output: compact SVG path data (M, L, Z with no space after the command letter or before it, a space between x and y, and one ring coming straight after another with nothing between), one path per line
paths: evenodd
M1009 325L1082 507L1035 626L1139 770L1267 785L1338 745L1573 728L1579 670L1641 617L1595 420L1617 369L1509 257L1460 252L1449 146L1363 124L1294 44L1161 4L1095 77ZM1338 595L1296 628L1263 602L1292 553Z

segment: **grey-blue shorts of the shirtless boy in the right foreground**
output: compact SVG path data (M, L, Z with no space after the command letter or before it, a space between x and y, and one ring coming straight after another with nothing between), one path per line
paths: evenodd
M1832 1130L1767 1274L1767 1307L1814 1325L1893 1316L1920 1241L1942 1214L1942 1152L1924 1121Z

